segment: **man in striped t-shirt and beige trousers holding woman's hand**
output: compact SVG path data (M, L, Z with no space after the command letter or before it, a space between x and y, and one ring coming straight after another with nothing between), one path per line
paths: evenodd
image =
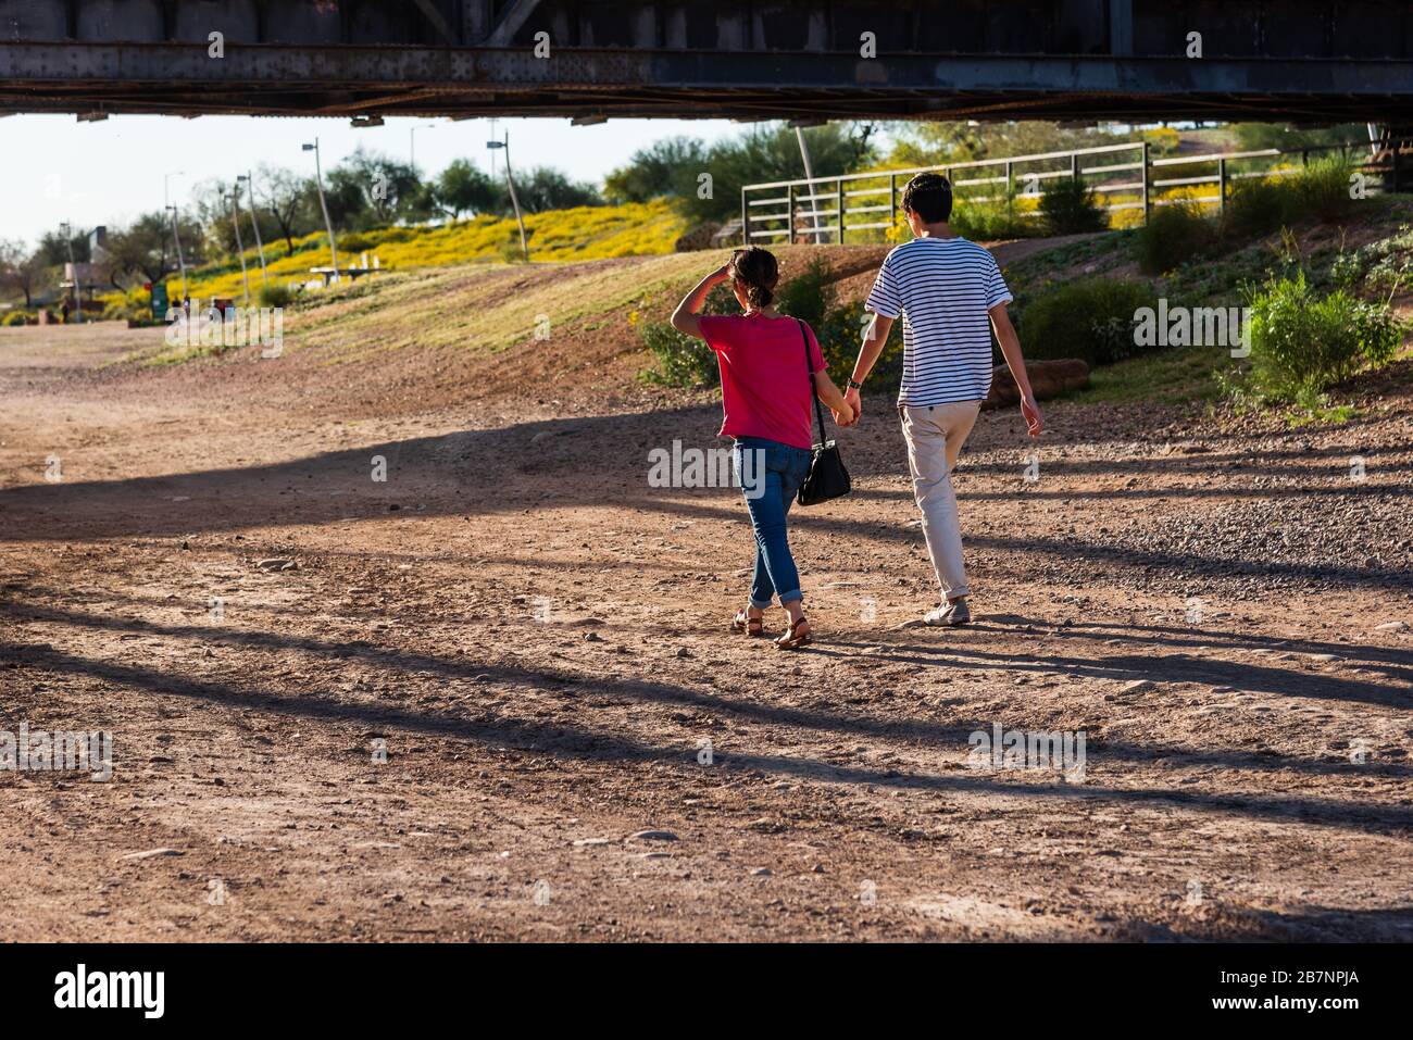
M1020 390L1020 411L1031 437L1044 428L1030 390L1020 341L1006 314L1010 290L996 260L948 226L952 187L938 174L918 174L903 191L903 212L916 236L887 254L865 308L873 321L845 400L859 417L859 389L903 315L903 386L897 411L903 417L913 492L923 512L923 534L942 602L927 625L965 625L966 571L957 520L952 468L971 432L981 403L991 391L991 329Z

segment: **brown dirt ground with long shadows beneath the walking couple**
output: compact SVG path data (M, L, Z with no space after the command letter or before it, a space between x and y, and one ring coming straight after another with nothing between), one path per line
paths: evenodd
M1406 372L983 414L961 630L870 398L788 654L739 492L647 485L719 408L622 338L112 363L160 336L0 329L0 729L113 733L0 772L0 940L1413 938Z

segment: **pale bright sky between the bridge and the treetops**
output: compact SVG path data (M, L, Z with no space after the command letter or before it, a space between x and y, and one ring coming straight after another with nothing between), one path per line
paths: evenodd
M663 137L715 141L742 130L729 120L620 119L569 126L568 119L504 119L496 122L495 134L509 131L516 170L551 165L598 184L637 148ZM490 122L485 119L389 119L380 127L355 129L346 117L110 116L78 123L73 116L11 116L0 119L0 239L34 244L64 220L75 228L124 225L165 205L164 181L171 199L182 205L201 181L235 181L261 162L312 174L314 155L300 146L315 136L325 171L359 144L404 161L415 147L424 177L454 158L490 170Z

